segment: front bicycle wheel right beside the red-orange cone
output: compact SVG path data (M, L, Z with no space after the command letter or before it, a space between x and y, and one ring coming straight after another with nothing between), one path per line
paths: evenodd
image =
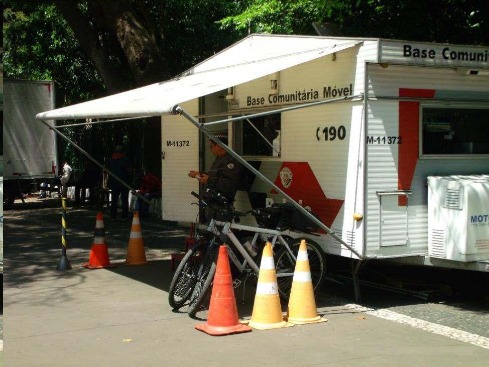
M218 253L219 246L215 246L214 241L212 241L199 267L197 282L190 296L190 303L188 305L188 315L190 317L195 316L209 293L210 286L214 280Z

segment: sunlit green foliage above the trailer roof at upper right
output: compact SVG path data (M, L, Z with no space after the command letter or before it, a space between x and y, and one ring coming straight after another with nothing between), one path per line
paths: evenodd
M224 29L315 34L312 22L344 36L455 44L489 44L489 3L476 0L250 0L222 19Z

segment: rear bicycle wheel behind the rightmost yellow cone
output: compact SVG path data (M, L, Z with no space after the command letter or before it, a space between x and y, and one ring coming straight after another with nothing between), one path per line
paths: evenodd
M299 245L301 239L294 239L289 243L290 250L295 257L299 251ZM309 258L309 267L311 269L311 279L314 291L319 289L321 283L326 275L326 259L324 252L313 240L306 238L307 256ZM292 287L292 274L295 270L295 261L291 258L289 252L285 247L282 247L276 256L275 262L277 272L277 285L279 287L279 293L285 298L289 298L290 289ZM280 274L291 274L290 276L281 277Z

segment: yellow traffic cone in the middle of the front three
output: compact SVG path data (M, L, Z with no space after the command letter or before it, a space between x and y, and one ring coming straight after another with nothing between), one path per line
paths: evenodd
M247 323L249 326L259 330L294 326L284 321L282 316L272 244L270 242L263 249L252 319Z

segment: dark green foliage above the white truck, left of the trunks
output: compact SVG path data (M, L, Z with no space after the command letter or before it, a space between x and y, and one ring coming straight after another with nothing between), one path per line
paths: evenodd
M54 80L57 105L103 93L101 79L87 67L89 59L53 5L5 9L4 42L4 77Z

